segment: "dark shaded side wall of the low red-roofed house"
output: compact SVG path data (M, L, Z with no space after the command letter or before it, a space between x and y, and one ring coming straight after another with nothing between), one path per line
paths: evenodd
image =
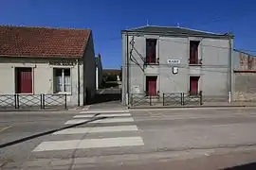
M87 42L86 49L83 56L83 72L84 72L83 104L91 103L93 101L93 97L95 96L95 91L96 91L95 64L96 63L95 63L94 42L93 42L93 35L91 34ZM86 93L86 88L88 93Z

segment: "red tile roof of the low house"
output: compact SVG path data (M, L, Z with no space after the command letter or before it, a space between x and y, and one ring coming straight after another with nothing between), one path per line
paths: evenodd
M82 58L89 29L0 26L0 57Z

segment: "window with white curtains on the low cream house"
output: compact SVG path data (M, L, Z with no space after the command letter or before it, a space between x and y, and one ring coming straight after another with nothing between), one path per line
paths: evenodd
M70 93L71 77L70 69L54 68L54 93Z

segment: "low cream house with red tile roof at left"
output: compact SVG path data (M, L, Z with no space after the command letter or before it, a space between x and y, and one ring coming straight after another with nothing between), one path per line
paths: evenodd
M0 26L0 97L19 94L25 100L20 102L36 105L40 94L65 94L68 106L82 106L95 95L92 70L91 30Z

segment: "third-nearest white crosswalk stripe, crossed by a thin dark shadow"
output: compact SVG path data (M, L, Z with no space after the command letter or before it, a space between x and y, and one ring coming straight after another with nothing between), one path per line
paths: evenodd
M80 124L82 122L88 121L90 119L77 119L77 120L69 120L66 123L64 123L65 125L68 124ZM92 123L121 123L121 122L134 122L134 118L132 117L127 117L127 118L106 118L106 119L101 119L101 120L96 120L93 122L89 122L89 124Z

